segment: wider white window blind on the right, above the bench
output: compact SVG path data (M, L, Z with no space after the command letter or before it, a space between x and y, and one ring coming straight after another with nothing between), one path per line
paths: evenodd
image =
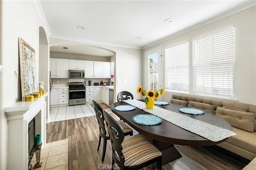
M193 41L193 92L234 98L235 29Z

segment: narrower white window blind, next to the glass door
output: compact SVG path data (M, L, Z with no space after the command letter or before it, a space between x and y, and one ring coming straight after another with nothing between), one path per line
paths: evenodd
M188 92L188 41L165 49L165 88Z

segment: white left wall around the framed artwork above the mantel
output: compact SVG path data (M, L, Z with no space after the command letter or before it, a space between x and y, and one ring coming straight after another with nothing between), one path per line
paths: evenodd
M14 81L14 72L20 73L18 37L21 37L35 50L38 74L39 27L42 22L32 1L1 0L1 72L0 89L0 169L7 167L7 118L4 108L21 100L20 76ZM37 75L38 77L38 75ZM18 139L17 139L18 140ZM18 142L18 141L17 141ZM15 163L15 160L14 160Z

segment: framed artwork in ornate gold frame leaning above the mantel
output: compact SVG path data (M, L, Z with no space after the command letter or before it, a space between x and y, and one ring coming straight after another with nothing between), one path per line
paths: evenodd
M35 50L20 37L19 54L22 101L25 101L25 96L38 91L38 83L36 78Z

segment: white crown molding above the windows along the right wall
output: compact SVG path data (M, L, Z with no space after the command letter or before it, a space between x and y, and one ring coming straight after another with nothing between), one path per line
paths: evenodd
M236 14L236 13L238 13L238 12L241 12L241 11L243 11L243 10L246 10L246 9L248 9L248 8L251 8L251 7L253 7L253 6L256 6L256 1L254 1L254 0L253 0L253 1L249 1L249 2L246 3L246 4L243 4L243 5L241 5L241 6L238 6L238 7L236 7L236 8L233 8L232 10L223 12L222 14L219 14L219 15L217 15L217 16L214 16L214 17L212 17L212 18L210 18L210 19L208 19L208 20L202 21L202 22L200 22L200 23L198 23L198 24L196 24L196 25L192 25L191 27L188 27L188 28L186 28L186 29L183 29L182 31L178 31L178 32L176 32L176 33L173 33L173 34L169 35L168 37L164 37L163 39L159 39L158 41L155 41L155 42L153 42L153 43L149 43L148 45L143 46L142 49L146 49L146 48L151 47L151 46L153 46L153 45L156 45L156 44L158 44L158 43L162 43L162 42L164 42L164 41L166 41L166 40L168 40L168 39L177 37L178 35L182 35L182 34L184 34L184 33L187 33L187 32L189 32L189 31L192 31L192 30L194 30L194 29L197 29L197 28L199 28L199 27L202 27L202 26L207 25L207 24L209 24L209 23L212 23L212 22L214 22L214 21L218 21L218 20L220 20L220 19L222 19L222 18L231 16L231 15L233 15L233 14Z

